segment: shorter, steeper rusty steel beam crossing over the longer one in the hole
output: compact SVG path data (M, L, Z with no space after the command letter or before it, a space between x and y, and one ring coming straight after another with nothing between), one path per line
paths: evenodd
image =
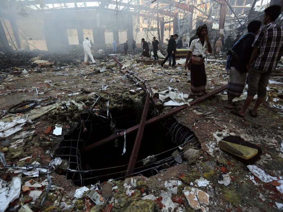
M142 139L144 128L146 126L146 117L147 117L147 113L149 109L149 102L150 102L150 95L149 95L149 92L147 92L146 102L145 102L145 105L142 111L141 122L139 124L139 129L137 131L137 136L136 136L136 140L134 143L134 147L132 149L132 154L129 160L126 176L133 174L135 166L136 166L137 156L138 156L139 149L141 146L141 139Z

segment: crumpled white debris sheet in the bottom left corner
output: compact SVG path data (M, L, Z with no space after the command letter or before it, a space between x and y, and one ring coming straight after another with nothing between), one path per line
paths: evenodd
M19 198L21 192L21 178L14 177L9 185L6 187L6 181L0 178L0 212L4 212L10 202Z

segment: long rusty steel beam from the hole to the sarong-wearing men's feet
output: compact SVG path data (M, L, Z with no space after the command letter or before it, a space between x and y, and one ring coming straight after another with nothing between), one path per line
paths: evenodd
M210 98L210 97L214 96L215 94L217 94L217 93L219 93L219 92L221 92L221 91L224 91L224 90L226 90L226 89L227 89L227 85L225 85L225 86L223 86L223 87L221 87L221 88L218 88L218 89L216 89L216 90L213 90L212 92L207 93L207 94L203 95L202 97L199 97L199 98L197 98L197 99L191 101L191 102L190 102L190 106L193 106L193 105L195 105L195 104L201 102L201 101L204 100L204 99ZM159 115L159 116L156 116L156 117L154 117L154 118L151 118L151 119L147 120L147 121L146 121L146 125L149 125L149 124L152 124L152 123L154 123L154 122L156 122L156 121L160 121L160 120L162 120L162 119L165 119L165 118L167 118L167 117L170 117L170 116L172 116L173 114L175 114L175 113L177 113L177 112L179 112L179 111L182 111L182 110L184 110L184 109L187 108L187 107L188 107L188 105L183 105L183 106L176 107L176 108L172 109L171 111L169 111L169 112L166 113L166 114ZM135 126L129 128L129 129L126 129L126 134L135 132L138 128L139 128L139 124L137 124L137 125L135 125ZM83 149L81 149L81 152L89 151L89 150L91 150L91 149L94 149L95 147L99 147L99 146L101 146L101 145L103 145L103 144L105 144L105 143L108 143L108 142L110 142L110 141L113 141L113 140L115 140L116 138L119 138L119 137L121 137L121 136L124 136L124 131L122 131L122 132L120 132L120 133L113 134L113 135L111 135L111 136L109 136L109 137L107 137L107 138L104 138L104 139L102 139L102 140L100 140L100 141L98 141L98 142L95 142L95 143L93 143L93 144L90 144L90 145L84 147Z

